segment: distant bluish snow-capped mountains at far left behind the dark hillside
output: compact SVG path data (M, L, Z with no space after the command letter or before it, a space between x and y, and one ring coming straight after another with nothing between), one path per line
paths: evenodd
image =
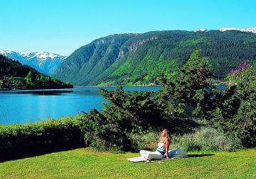
M51 76L67 58L60 54L52 54L48 52L13 52L10 50L0 50L0 54L3 54L10 59L18 60L21 64L27 64L49 76Z

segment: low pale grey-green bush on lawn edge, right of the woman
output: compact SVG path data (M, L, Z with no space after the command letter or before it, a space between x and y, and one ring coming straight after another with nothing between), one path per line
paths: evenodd
M242 149L242 142L211 127L201 127L192 134L172 137L171 146L185 151L235 151Z

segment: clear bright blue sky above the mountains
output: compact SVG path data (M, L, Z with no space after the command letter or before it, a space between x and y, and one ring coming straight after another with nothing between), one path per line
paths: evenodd
M70 54L114 33L256 27L255 0L0 0L0 50Z

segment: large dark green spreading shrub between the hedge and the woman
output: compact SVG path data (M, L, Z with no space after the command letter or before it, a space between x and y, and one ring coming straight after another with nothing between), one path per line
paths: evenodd
M85 144L100 150L138 149L131 134L143 134L166 124L152 94L124 92L121 86L114 91L102 89L110 104L105 104L102 112L92 110L80 122Z

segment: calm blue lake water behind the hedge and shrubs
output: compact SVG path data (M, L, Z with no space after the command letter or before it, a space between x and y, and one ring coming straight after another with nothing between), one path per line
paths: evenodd
M114 90L114 87L107 87ZM159 86L124 87L125 91L159 91ZM102 110L105 98L99 88L0 91L0 125L25 124L48 117L75 116L92 108Z

